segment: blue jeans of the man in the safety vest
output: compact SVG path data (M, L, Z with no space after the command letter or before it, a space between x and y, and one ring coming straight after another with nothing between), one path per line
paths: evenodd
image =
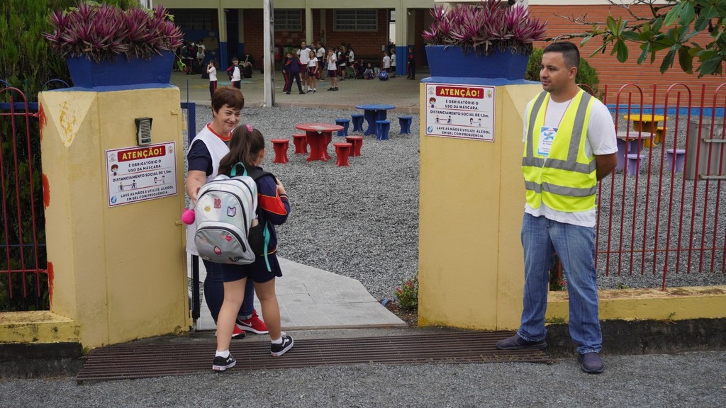
M524 301L518 335L540 341L547 335L544 312L550 289L550 268L555 252L562 262L569 294L570 336L580 354L603 348L603 333L597 311L595 229L524 214Z

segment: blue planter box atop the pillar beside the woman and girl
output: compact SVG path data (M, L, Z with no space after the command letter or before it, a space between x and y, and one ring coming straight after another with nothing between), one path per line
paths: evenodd
M94 62L86 57L73 57L65 62L76 88L158 88L169 85L174 53L154 54L151 60L126 60L124 55L119 55L113 61Z

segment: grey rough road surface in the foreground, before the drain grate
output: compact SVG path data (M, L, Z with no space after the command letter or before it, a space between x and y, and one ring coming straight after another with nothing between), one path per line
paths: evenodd
M724 352L608 356L601 375L555 364L368 364L232 370L76 385L0 380L20 407L724 407Z

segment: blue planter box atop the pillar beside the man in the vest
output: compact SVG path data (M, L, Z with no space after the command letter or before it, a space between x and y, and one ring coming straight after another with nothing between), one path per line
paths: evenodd
M524 79L529 55L495 50L489 55L464 54L459 46L425 46L431 76Z

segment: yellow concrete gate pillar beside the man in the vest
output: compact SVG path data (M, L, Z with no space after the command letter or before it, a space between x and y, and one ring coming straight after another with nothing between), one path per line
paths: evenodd
M491 88L491 141L427 136L435 93L420 87L419 325L515 329L523 286L523 114L542 86ZM446 110L441 102L437 108ZM450 110L454 121L458 112Z

